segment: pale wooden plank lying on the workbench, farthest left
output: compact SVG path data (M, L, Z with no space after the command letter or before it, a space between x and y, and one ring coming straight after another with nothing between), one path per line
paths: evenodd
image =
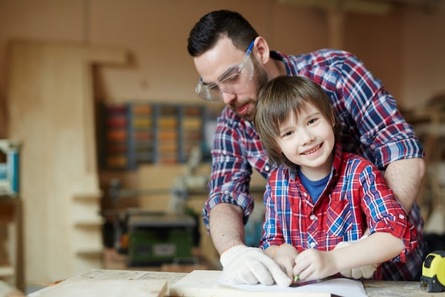
M163 297L166 291L167 281L161 279L68 279L45 291L41 297Z

